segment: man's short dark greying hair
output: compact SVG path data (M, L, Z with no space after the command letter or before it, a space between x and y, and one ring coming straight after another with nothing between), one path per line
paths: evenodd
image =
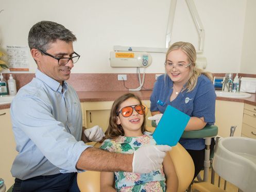
M46 51L50 43L57 40L67 43L76 41L76 36L63 25L52 21L40 21L33 25L28 33L28 46Z

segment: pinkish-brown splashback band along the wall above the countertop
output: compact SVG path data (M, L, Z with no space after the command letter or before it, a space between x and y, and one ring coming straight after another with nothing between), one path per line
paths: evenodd
M137 88L139 86L138 75L126 74L127 81L117 81L118 74L71 74L68 80L76 91L127 91L126 88ZM217 77L225 76L225 73L213 74ZM235 75L235 73L233 73ZM9 78L9 74L3 74L5 79ZM238 74L242 77L254 77L256 74ZM31 81L35 77L35 74L13 74L13 78L16 80L17 90ZM142 78L142 75L141 75ZM155 82L156 74L145 74L145 82L142 90L151 90ZM124 85L125 83L125 85ZM126 86L126 88L125 88Z

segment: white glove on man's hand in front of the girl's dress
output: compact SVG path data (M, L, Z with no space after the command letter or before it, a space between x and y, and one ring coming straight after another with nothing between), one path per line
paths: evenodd
M133 154L132 172L148 173L162 166L166 151L171 150L168 145L148 145L136 150Z

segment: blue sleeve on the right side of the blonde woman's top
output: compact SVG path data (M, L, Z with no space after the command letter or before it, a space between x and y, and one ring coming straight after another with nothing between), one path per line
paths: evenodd
M215 123L215 100L214 85L211 81L201 81L198 84L192 116L203 117L205 122L213 125Z

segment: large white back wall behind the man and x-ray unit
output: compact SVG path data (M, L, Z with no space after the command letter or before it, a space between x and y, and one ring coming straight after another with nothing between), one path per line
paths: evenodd
M250 0L253 1L253 0ZM194 0L205 30L204 56L213 73L239 72L246 0ZM72 30L81 55L73 73L135 73L111 68L113 45L164 47L170 0L0 0L0 48L27 46L30 27L50 20ZM250 23L248 24L250 25ZM198 47L198 34L185 0L177 1L172 42ZM164 73L164 54L152 54L146 73ZM36 64L30 57L29 73Z

